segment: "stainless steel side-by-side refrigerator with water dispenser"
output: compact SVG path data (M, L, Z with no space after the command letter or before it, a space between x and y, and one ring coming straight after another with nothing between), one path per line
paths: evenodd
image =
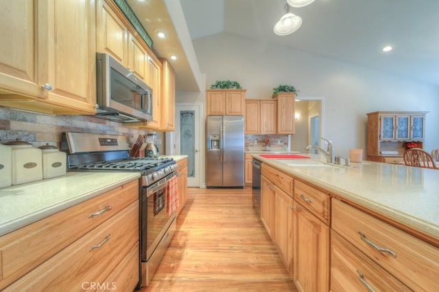
M244 116L207 116L206 186L244 187Z

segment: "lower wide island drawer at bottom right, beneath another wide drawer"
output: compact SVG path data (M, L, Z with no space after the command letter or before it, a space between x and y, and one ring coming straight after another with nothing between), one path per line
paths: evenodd
M343 237L331 233L331 291L411 291Z

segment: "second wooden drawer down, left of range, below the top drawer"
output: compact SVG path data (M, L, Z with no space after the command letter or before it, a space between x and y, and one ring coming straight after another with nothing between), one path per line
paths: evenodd
M104 283L138 241L139 200L16 280L5 291L90 289L84 285Z

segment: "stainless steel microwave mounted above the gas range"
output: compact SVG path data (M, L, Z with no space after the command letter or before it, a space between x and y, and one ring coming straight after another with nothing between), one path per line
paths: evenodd
M152 88L105 53L96 54L98 118L116 122L152 120Z

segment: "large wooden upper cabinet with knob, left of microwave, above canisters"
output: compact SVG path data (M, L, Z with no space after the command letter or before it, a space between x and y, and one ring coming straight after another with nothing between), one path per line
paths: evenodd
M0 3L0 105L95 114L94 1Z

